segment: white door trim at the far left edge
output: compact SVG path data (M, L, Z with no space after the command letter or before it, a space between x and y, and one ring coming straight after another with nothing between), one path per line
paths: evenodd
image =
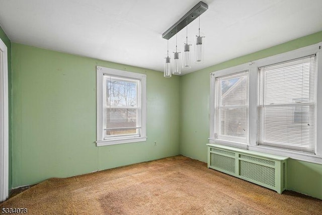
M0 201L9 195L8 50L0 39Z

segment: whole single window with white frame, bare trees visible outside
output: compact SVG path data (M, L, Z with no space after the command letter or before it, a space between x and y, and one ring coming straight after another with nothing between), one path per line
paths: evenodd
M145 80L97 66L97 146L146 140Z

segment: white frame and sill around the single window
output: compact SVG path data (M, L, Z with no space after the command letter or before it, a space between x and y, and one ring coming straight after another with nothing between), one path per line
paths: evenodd
M108 145L116 145L116 144L126 144L129 142L141 142L146 141L146 75L139 73L131 73L129 71L122 71L113 68L107 68L103 66L96 66L96 91L97 91L97 133L96 133L96 145L100 146L108 146ZM114 137L104 137L104 113L103 113L103 79L104 75L120 77L126 79L135 79L140 81L140 133L139 135L133 136L114 136Z

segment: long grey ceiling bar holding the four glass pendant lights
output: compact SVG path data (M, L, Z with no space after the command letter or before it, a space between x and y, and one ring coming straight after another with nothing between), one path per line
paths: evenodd
M169 40L175 36L181 29L186 27L189 23L197 19L201 14L208 10L208 5L203 2L199 2L188 13L185 14L176 24L169 28L162 34L162 38Z

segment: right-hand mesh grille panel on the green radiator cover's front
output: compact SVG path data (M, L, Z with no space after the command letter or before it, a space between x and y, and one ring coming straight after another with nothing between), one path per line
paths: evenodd
M275 169L246 161L239 161L240 176L275 187Z

